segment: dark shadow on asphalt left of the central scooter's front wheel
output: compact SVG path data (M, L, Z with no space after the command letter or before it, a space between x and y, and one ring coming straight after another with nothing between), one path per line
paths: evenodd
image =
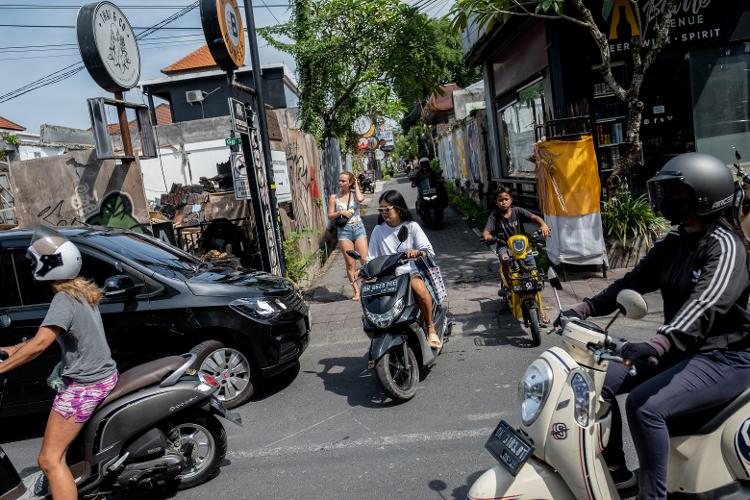
M323 366L321 371L309 373L323 380L326 391L346 396L349 406L383 408L394 404L381 390L373 371L367 368L367 355L326 358L319 363Z

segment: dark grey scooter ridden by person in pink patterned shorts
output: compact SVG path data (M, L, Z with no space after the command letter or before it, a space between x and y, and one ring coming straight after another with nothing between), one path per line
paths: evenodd
M241 419L214 396L219 382L190 368L195 359L170 356L120 376L68 452L80 498L162 485L186 489L218 471L227 436L215 415L238 425ZM22 479L0 447L0 499L48 497L44 474Z

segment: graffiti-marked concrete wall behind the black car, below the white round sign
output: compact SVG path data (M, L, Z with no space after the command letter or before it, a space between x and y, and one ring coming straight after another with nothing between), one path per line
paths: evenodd
M86 222L150 230L138 162L101 162L93 151L76 151L13 162L9 168L19 227Z

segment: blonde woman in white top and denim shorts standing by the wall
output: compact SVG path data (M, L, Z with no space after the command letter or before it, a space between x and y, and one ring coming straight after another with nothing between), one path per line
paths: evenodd
M352 300L359 300L357 285L357 263L346 254L347 250L356 250L362 256L361 262L367 262L367 231L359 215L359 204L365 201L359 189L357 178L351 172L339 175L339 192L328 199L328 219L333 221L338 230L339 250L346 262L346 275L354 290Z

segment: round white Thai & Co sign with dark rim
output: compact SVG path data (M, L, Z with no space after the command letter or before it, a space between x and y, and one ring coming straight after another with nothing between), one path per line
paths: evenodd
M128 18L110 2L86 4L76 19L78 50L91 77L110 92L138 85L141 54Z

